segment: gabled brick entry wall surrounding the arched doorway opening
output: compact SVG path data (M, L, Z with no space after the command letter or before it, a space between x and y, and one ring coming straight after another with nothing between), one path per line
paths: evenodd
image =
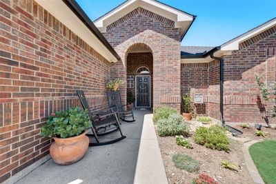
M171 105L180 110L180 39L181 29L158 14L137 8L108 25L103 33L121 61L112 64L111 78L126 81L126 57L130 47L144 44L153 56L153 106ZM126 99L126 86L122 89Z

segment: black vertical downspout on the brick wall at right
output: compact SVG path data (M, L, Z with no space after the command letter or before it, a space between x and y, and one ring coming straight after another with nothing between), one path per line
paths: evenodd
M224 59L222 57L215 57L214 53L211 53L210 57L212 59L219 60L220 119L221 119L221 125L225 126L225 121L224 121Z

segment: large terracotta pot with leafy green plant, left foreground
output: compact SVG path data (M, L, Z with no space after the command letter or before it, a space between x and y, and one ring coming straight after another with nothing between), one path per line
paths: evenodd
M92 127L88 110L70 108L55 112L41 127L41 136L53 138L50 145L50 156L59 165L70 165L79 161L86 154L89 145L86 132Z

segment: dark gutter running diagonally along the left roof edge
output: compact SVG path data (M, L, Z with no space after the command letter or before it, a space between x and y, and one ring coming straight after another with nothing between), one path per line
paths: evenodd
M79 6L77 1L75 0L62 0L63 3L72 10L72 12L75 13L75 15L86 25L86 27L103 43L103 45L106 46L106 48L112 53L112 55L117 59L120 60L121 58L119 57L119 54L112 48L110 43L106 40L105 37L103 37L103 34L99 32L98 28L95 26L94 23L89 19L87 14L82 10L82 8Z

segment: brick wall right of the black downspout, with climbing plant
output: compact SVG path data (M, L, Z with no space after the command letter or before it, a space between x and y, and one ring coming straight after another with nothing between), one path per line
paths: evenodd
M225 57L225 119L232 122L264 123L254 74L261 74L271 89L276 81L276 26L239 44L240 50ZM268 109L273 103L266 104ZM275 119L271 119L276 122Z

